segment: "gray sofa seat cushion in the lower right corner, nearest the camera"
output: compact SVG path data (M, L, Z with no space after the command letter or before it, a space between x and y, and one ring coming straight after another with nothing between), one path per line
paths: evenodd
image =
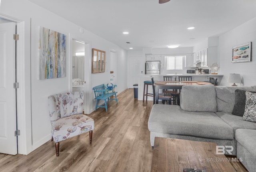
M253 156L256 156L256 130L237 129L236 140L244 146Z

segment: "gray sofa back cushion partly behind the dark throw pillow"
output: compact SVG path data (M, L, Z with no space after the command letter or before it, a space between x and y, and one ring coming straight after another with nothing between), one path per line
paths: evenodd
M256 85L243 86L243 87L215 86L217 111L232 113L234 104L235 104L236 89L241 89L246 91L256 91Z

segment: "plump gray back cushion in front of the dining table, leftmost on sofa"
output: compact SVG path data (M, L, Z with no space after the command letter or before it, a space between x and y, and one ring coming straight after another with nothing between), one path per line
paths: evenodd
M214 85L184 85L181 91L180 107L192 112L216 112Z

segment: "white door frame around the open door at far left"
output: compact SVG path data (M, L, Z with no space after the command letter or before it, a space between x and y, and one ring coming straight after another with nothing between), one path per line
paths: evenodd
M20 130L18 136L18 154L32 152L32 124L31 124L31 81L30 81L30 60L25 59L25 22L11 16L0 13L0 18L16 23L19 40L16 43L16 79L19 83L17 89L17 126ZM29 24L30 25L30 24ZM28 29L28 28L27 28ZM29 32L30 33L30 27ZM29 45L30 45L30 38ZM26 52L30 59L30 51ZM25 66L26 61L26 66Z

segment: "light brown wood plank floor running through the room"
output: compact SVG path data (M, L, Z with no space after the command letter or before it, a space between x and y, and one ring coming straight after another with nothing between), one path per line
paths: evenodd
M134 99L133 89L127 89L118 95L118 105L109 103L108 112L100 108L88 115L95 122L91 145L85 133L60 142L59 157L51 140L28 155L0 154L0 172L149 172L152 105ZM239 162L232 165L246 171Z

